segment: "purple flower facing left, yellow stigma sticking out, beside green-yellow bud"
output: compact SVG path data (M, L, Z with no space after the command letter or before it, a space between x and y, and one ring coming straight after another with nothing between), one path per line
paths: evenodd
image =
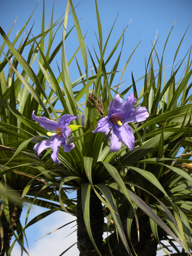
M34 112L35 111L33 111L32 114L33 120L39 123L40 126L42 126L45 130L49 130L51 132L55 131L55 133L48 132L47 135L50 136L50 139L38 142L33 149L35 150L35 152L37 152L37 155L40 156L43 150L51 147L53 150L51 158L54 162L60 164L57 156L57 153L59 152L59 146L61 145L65 152L70 152L75 147L74 143L67 144L66 142L69 134L72 132L71 128L68 127L68 125L72 120L76 119L77 116L69 114L62 115L58 119L58 122L56 122L53 120L49 120L45 116L38 117L34 114Z

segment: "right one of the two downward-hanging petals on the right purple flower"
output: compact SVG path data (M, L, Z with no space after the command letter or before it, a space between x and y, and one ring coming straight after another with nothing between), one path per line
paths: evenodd
M133 150L133 147L135 145L135 137L133 135L133 131L131 129L131 127L129 125L127 125L127 123L124 123L120 128L120 139L123 141L123 143L129 147L131 149L131 151Z

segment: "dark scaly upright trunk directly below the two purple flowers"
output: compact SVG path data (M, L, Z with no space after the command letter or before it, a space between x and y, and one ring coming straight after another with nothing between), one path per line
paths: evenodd
M91 190L90 194L90 226L93 239L98 250L101 252L103 248L103 207L101 201ZM79 256L94 256L97 255L89 235L86 230L86 226L83 219L82 205L81 205L81 189L77 190L77 247L80 251Z

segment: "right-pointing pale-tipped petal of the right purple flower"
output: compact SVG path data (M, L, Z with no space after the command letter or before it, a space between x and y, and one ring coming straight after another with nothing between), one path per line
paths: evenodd
M145 107L138 107L134 109L134 112L130 114L124 121L125 122L142 122L146 120L149 113Z

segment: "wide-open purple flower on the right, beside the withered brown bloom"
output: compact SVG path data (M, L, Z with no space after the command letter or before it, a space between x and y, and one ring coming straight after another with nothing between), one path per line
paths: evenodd
M107 135L111 129L111 147L110 152L119 151L122 142L133 150L134 135L129 122L142 122L148 116L145 107L134 109L136 98L131 93L125 102L122 104L122 99L119 94L109 103L109 113L104 118L100 119L97 128L92 132L104 132Z

